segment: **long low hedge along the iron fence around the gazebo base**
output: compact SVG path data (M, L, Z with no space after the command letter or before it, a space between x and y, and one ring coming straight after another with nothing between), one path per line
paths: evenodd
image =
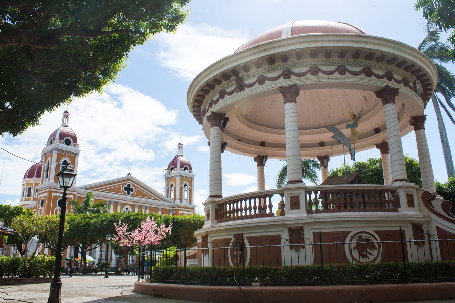
M184 267L157 266L152 268L155 283L188 285L251 285L263 286L356 285L429 283L455 281L455 261L362 263L307 266L248 266L242 267Z

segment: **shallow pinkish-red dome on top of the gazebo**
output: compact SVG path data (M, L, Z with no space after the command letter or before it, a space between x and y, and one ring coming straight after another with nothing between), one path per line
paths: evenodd
M263 42L285 38L289 36L308 35L308 34L360 34L366 33L347 23L322 21L322 20L302 20L292 21L272 28L252 40L246 42L237 49L241 51L247 47Z

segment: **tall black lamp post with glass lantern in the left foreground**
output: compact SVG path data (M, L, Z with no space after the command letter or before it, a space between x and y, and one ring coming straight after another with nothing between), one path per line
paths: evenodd
M60 303L62 293L62 280L60 279L60 267L62 266L63 254L63 229L65 227L66 215L66 190L73 186L76 173L68 166L62 168L57 174L59 185L63 188L62 203L60 205L60 221L59 221L59 234L57 238L57 250L55 255L54 266L54 279L51 282L51 289L49 290L48 303Z

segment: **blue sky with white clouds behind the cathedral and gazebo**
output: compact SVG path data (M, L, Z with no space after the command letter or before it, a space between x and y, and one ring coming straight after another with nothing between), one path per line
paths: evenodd
M193 0L187 21L175 34L160 33L133 49L118 78L104 88L74 99L68 106L69 126L81 149L77 185L131 173L163 193L163 169L177 153L181 137L184 155L194 171L197 212L209 191L209 146L202 126L187 107L191 80L211 63L268 29L294 20L345 22L367 33L417 47L425 37L425 19L414 9L415 0L303 1ZM446 37L447 35L444 35ZM445 38L443 39L445 42ZM449 66L455 72L453 66ZM65 107L41 117L40 125L22 135L0 137L0 147L30 161L40 161L49 135L61 124ZM435 179L447 181L437 122L431 102L425 110L426 135ZM449 143L455 151L455 126L446 114ZM402 138L404 153L418 159L414 132ZM380 157L376 148L356 155L357 161ZM256 164L251 157L226 151L222 155L223 196L256 191ZM346 162L351 163L349 157ZM0 150L0 203L19 203L21 181L33 163ZM267 189L275 188L284 164L268 160ZM333 157L329 169L343 164ZM310 182L305 182L312 185Z

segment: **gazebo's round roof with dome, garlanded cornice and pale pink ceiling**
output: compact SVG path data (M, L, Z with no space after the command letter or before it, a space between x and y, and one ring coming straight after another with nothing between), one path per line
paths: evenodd
M291 84L300 89L297 114L304 158L342 154L343 147L326 126L336 126L349 137L345 125L350 113L361 110L356 150L387 141L382 102L374 93L387 85L399 88L401 135L412 131L408 121L423 114L437 81L432 62L415 48L366 35L356 27L312 22L288 23L265 32L193 80L188 107L207 138L210 125L205 116L211 111L225 113L230 119L223 136L228 150L285 158L284 106L278 87ZM343 30L348 33L340 33ZM280 32L284 37L275 37Z

